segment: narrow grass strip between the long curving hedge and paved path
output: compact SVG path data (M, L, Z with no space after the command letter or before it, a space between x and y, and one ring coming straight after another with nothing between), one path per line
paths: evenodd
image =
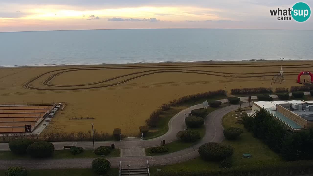
M214 100L219 100L219 99L222 99L223 97L224 96L215 96L215 97L212 97L210 99L201 98L201 99L195 100L195 104L197 105L197 104L203 103L206 100L208 100L208 102L214 101ZM159 136L162 136L163 134L165 134L168 131L168 122L170 121L170 119L173 116L175 116L178 112L180 112L180 111L182 111L182 110L184 110L190 106L193 106L193 101L187 101L187 102L185 102L179 106L171 106L169 110L163 111L163 113L160 115L161 119L158 122L157 127L155 127L155 128L150 127L149 132L145 135L145 139L152 139L152 138L156 138L156 137L159 137ZM208 109L208 111L209 111L209 109Z

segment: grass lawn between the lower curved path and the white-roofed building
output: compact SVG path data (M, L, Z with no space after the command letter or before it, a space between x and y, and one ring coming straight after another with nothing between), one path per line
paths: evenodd
M236 112L237 113L237 112ZM235 124L238 118L235 118L235 111L226 114L222 120L224 128L240 127L244 129L243 125ZM239 113L237 113L239 115ZM233 116L232 116L233 115ZM236 116L238 116L236 115ZM244 133L235 141L228 141L225 139L223 143L229 144L233 147L234 153L230 158L233 168L241 167L255 167L259 165L271 165L274 163L284 162L277 153L270 150L261 140L253 137L252 133L244 129ZM243 158L242 154L251 153L252 158ZM154 166L151 167L151 174L156 173L156 169L162 171L172 172L192 172L192 171L214 171L220 170L218 162L208 162L202 160L200 157L194 158L178 164Z

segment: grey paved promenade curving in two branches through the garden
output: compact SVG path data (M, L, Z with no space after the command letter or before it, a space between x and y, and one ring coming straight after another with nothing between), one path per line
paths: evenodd
M243 107L248 106L248 103L242 104ZM196 105L196 108L200 108L202 104ZM159 156L140 156L140 157L117 157L117 158L106 158L111 162L112 167L119 167L120 161L122 166L126 166L128 163L131 166L146 166L146 160L149 160L150 165L163 165L163 164L174 164L182 161L186 161L199 156L198 148L200 145L207 142L222 142L223 141L223 127L221 124L222 118L225 114L238 108L238 105L226 106L217 109L208 114L205 119L206 133L204 137L192 147L165 155ZM190 112L193 109L189 107L177 115L172 117L169 122L169 130L166 134L161 137L157 137L150 140L144 141L119 141L114 142L116 148L146 148L152 146L158 146L161 140L165 139L166 142L172 142L176 140L176 133L183 130L184 113ZM73 142L70 142L72 144ZM76 146L87 146L92 148L92 142L74 142ZM112 142L95 142L95 146L110 145ZM69 142L55 142L56 148L68 145ZM1 144L7 145L7 144ZM76 159L44 159L44 160L0 160L0 169L5 169L10 166L24 166L26 168L41 168L41 169L57 169L57 168L90 168L91 162L94 158L76 158Z

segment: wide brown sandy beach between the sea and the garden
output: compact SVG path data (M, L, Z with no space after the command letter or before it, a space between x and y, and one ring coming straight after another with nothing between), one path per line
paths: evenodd
M45 131L98 131L121 128L135 136L150 113L162 103L198 92L233 88L270 87L280 61L191 62L126 65L77 65L0 68L0 104L8 102L67 102ZM285 84L301 85L301 71L313 61L284 61ZM303 75L301 79L308 79ZM94 120L69 120L73 117Z

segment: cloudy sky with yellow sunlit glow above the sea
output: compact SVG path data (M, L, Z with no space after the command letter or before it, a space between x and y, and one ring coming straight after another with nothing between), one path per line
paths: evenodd
M269 10L293 0L0 0L0 32L240 28L313 30L306 22L278 21ZM312 10L313 0L302 1Z

